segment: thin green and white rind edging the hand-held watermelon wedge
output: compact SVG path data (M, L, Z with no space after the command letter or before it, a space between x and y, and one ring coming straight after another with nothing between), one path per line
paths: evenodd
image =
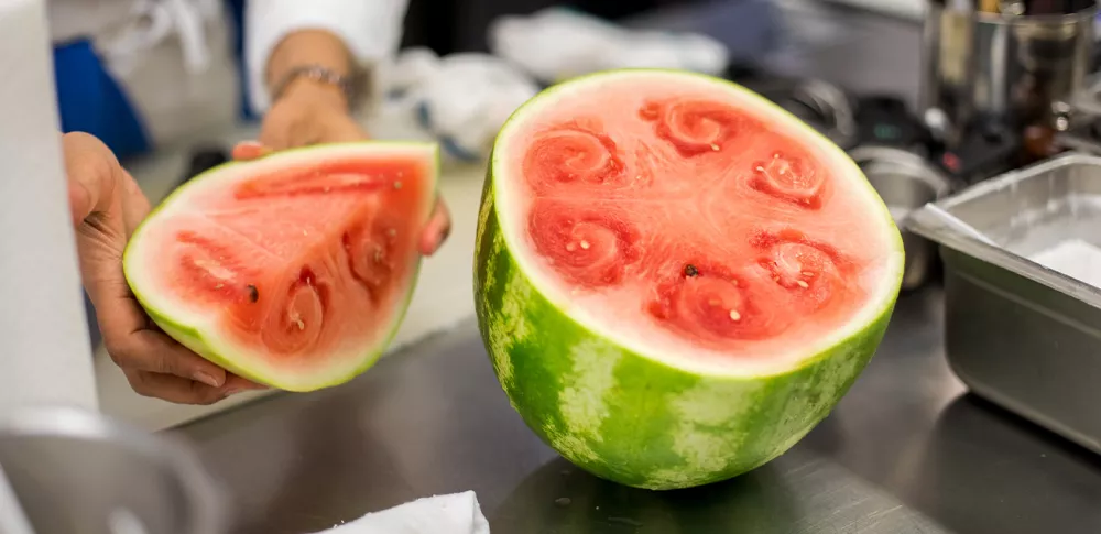
M342 148L352 148L352 146L358 148L363 144L370 144L371 146L432 145L434 149L433 152L435 154L433 157L434 160L433 167L436 171L432 173L432 175L429 176L429 179L432 181L429 195L432 198L436 198L436 196L438 196L439 150L438 146L435 146L435 143L413 142L413 141L377 141L377 140L362 141L362 142L329 143L324 145L286 149L270 155L265 155L263 156L263 159L270 160L284 156L290 157L293 155L299 155L313 151L339 150ZM368 371L370 368L372 368L379 361L382 355L385 353L386 348L393 341L394 336L397 335L397 330L405 318L405 314L408 312L410 302L413 299L413 293L416 290L417 281L419 279L421 263L422 263L422 258L419 255L412 265L410 284L406 287L406 291L404 293L404 296L400 305L394 310L391 325L385 329L385 335L382 336L382 339L377 345L374 345L373 349L368 355L364 355L364 358L361 360L362 363L357 366L356 368L347 370L347 372L341 372L340 374L333 377L331 379L310 380L308 386L302 386L299 383L297 383L299 381L282 380L277 377L271 377L262 372L257 372L255 370L250 369L248 366L238 364L237 362L235 362L236 360L235 358L230 358L222 355L221 353L222 351L219 351L216 347L218 344L210 342L210 340L207 339L207 336L204 336L204 334L199 331L198 328L181 324L179 322L171 317L170 312L157 309L154 305L152 305L150 299L146 298L145 295L143 295L143 291L140 287L137 287L135 284L131 281L129 274L127 274L138 269L141 269L140 265L134 264L137 260L132 260L132 258L134 258L132 251L137 247L134 243L140 241L140 239L138 238L140 238L141 236L142 228L150 220L154 220L154 217L159 211L161 211L166 206L171 206L173 198L175 198L178 195L183 195L186 189L196 186L196 184L200 184L204 179L207 179L214 175L222 174L224 172L229 171L231 168L236 168L238 166L249 165L249 163L251 162L231 161L218 165L216 167L211 167L207 171L204 171L203 173L199 173L195 177L188 179L185 184L174 189L171 194L168 194L168 196L166 196L156 207L154 207L150 211L150 214L134 229L134 232L130 241L127 243L127 248L122 254L123 274L127 277L127 283L130 285L130 291L134 294L134 297L138 299L138 303L141 304L142 308L145 310L145 314L149 315L149 317L153 320L153 323L155 323L157 327L164 330L164 333L167 334L171 338L175 339L184 347L187 347L196 355L203 357L204 359L210 361L211 363L215 363L216 366L225 369L226 371L237 374L238 377L251 380L257 383L261 383L264 385L291 392L309 392L326 388L333 388L346 383L355 379L356 377L362 374L363 372ZM430 217L432 210L429 209L428 212Z

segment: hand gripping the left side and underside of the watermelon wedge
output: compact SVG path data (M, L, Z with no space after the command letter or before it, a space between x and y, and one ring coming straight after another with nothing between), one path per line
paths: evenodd
M131 388L179 404L211 404L261 388L187 350L145 315L122 274L122 252L149 200L115 154L86 133L63 138L80 276L103 345Z

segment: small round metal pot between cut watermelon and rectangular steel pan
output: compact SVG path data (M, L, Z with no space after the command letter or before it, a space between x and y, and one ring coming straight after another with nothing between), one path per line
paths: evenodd
M904 228L911 211L951 193L952 182L914 152L863 145L853 149L849 155L887 205L900 229ZM916 290L928 280L937 261L937 249L931 241L916 233L901 231L906 250L902 288Z

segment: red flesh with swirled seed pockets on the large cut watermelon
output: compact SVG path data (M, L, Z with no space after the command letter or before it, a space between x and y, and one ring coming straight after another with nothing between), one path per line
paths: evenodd
M502 216L548 296L651 348L746 369L806 358L805 340L891 291L897 232L868 225L880 200L836 178L851 173L836 150L712 86L646 84L646 97L560 96L525 116L509 141L524 150L499 153L499 172L524 177L498 184Z

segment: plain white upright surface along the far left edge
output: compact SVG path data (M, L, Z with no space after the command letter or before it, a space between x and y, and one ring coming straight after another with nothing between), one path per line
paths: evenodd
M0 2L0 412L97 407L42 0Z

